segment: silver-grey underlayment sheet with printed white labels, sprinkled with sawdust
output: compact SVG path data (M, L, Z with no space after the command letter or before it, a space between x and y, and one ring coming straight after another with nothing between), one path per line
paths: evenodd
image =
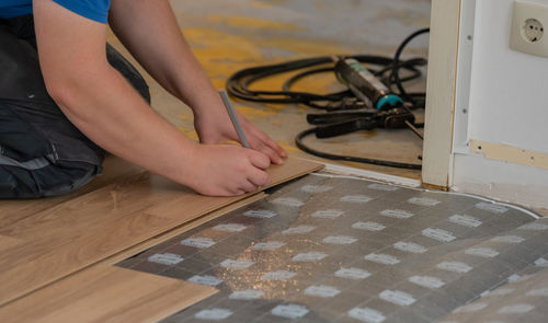
M220 289L164 322L548 318L548 219L327 173L118 265Z

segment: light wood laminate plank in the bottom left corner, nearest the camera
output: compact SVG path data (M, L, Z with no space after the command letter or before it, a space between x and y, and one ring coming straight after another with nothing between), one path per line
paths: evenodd
M1 322L157 322L217 290L112 266L94 266L0 308Z

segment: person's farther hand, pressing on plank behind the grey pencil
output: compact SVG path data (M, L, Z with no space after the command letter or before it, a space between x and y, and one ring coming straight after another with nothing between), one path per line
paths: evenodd
M221 103L222 104L222 103ZM236 112L238 120L242 126L249 146L256 151L266 154L271 162L282 164L287 152L279 147L269 135L251 124L242 114ZM226 140L240 141L238 134L222 105L208 113L194 114L194 127L201 143L215 145Z

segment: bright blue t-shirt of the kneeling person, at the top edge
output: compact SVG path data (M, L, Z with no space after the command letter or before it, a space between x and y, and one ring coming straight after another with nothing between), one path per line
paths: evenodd
M66 9L100 23L106 23L111 0L53 0ZM14 18L33 12L32 0L0 1L0 19Z

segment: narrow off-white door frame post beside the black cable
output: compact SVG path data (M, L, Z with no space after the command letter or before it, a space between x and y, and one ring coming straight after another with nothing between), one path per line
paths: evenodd
M450 185L460 0L432 1L422 181Z

